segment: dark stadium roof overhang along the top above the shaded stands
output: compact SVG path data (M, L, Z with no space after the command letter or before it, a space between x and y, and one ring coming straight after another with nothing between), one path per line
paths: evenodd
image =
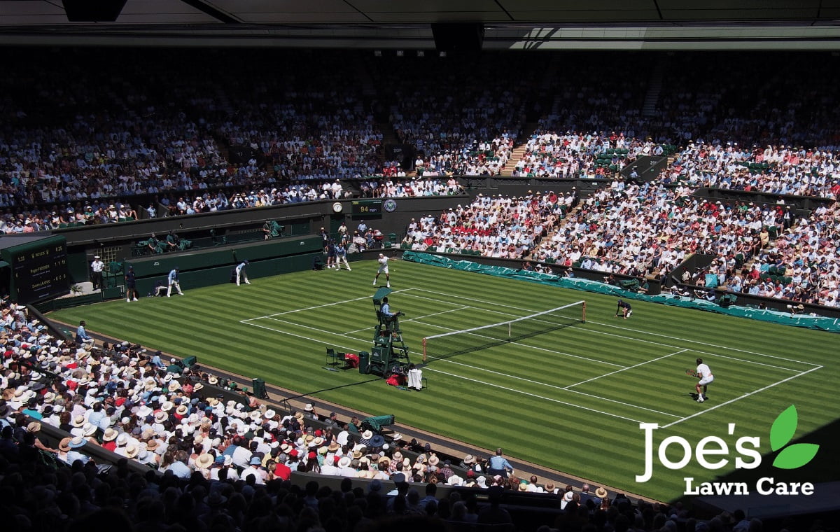
M420 50L432 23L476 23L486 50L840 50L840 0L127 0L113 22L72 2L113 3L3 0L0 44Z

